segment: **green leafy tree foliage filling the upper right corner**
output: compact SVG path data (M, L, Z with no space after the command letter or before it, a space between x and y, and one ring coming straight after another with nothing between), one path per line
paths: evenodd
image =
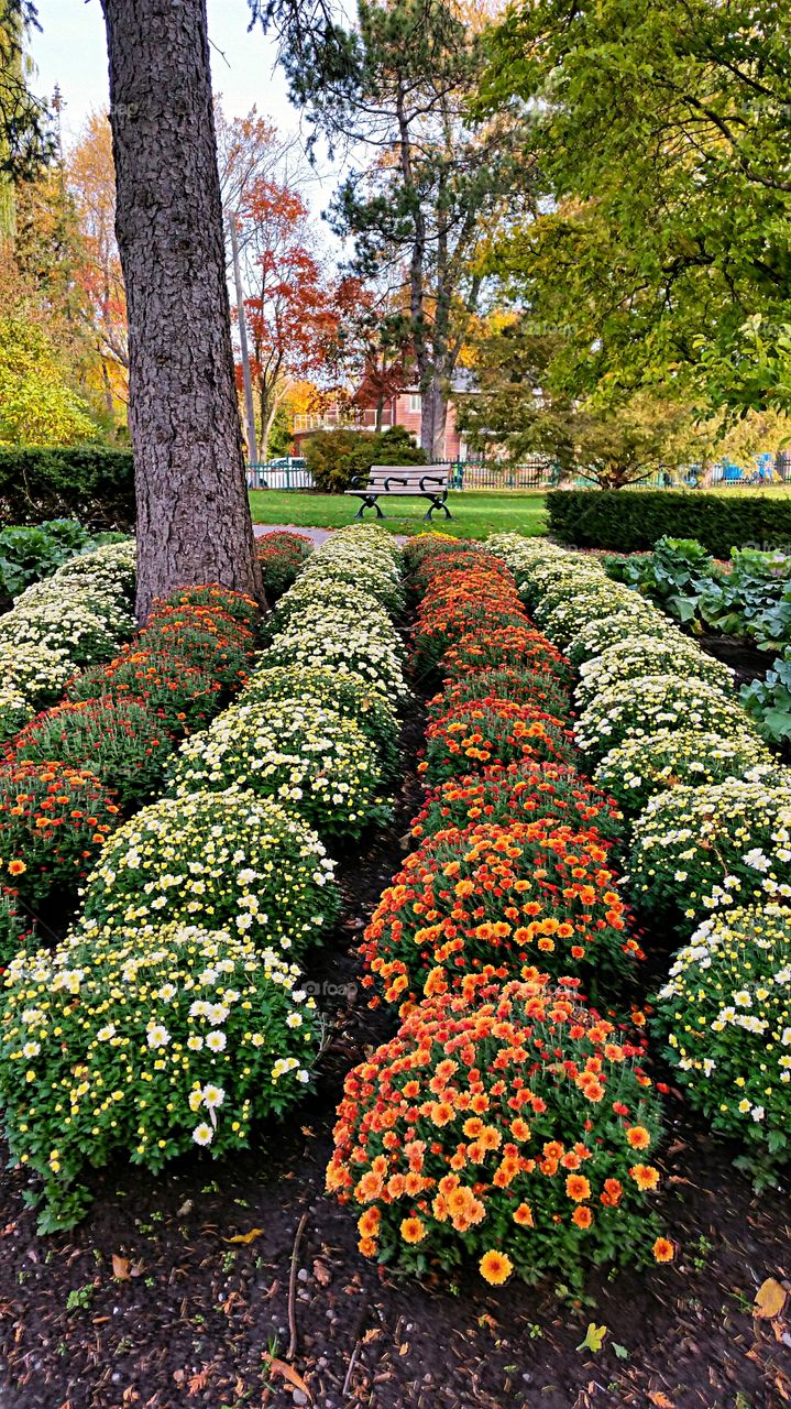
M498 27L484 110L532 106L548 196L500 272L569 328L556 385L791 406L788 21L788 0L531 0Z

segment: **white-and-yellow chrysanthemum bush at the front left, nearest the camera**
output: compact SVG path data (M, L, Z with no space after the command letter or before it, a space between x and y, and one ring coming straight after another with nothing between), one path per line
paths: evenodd
M86 1169L228 1155L304 1093L318 1048L297 969L224 930L100 931L15 960L0 1016L11 1160L41 1181L39 1230L70 1227Z

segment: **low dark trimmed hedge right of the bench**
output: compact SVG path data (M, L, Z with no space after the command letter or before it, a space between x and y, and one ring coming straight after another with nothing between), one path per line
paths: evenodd
M732 548L791 545L791 497L707 490L563 489L548 495L549 533L574 548L640 552L657 538L697 538L715 558Z

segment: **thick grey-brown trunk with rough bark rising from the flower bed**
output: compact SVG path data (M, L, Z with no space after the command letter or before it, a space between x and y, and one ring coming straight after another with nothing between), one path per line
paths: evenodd
M129 320L138 614L173 588L260 595L225 283L205 0L101 0Z

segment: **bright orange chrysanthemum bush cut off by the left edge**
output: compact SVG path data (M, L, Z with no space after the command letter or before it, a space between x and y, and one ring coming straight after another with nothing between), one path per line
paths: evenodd
M0 881L27 906L73 899L117 824L114 795L86 768L0 765Z

